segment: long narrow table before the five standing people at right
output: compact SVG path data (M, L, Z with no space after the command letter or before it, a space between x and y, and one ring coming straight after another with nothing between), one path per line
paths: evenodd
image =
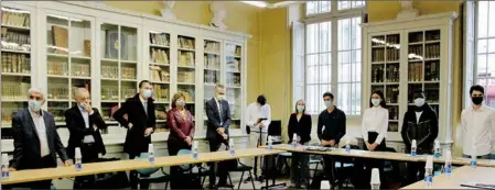
M266 146L265 146L266 147ZM357 158L370 158L370 159L388 159L388 160L398 160L398 161L427 161L426 155L410 156L405 153L390 153L390 152L368 152L361 149L351 149L349 153L346 153L344 148L331 148L331 150L319 152L319 150L306 150L304 149L306 146L297 146L292 147L292 145L283 144L283 145L273 145L273 149L286 150L286 152L295 152L295 153L306 153L306 154L315 154L315 155L330 155L330 156L342 156L342 157L357 157ZM445 163L445 158L443 156L433 159L434 163ZM469 158L453 158L453 165L470 165ZM495 160L489 159L477 159L477 166L482 167L495 167Z

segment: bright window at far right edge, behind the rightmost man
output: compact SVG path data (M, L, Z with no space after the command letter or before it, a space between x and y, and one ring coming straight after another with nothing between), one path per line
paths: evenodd
M485 87L486 104L495 108L495 1L477 1L477 83Z

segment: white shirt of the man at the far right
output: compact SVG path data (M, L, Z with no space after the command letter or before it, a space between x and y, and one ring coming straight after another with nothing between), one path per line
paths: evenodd
M495 111L483 104L475 111L473 107L461 113L461 130L464 155L484 156L495 146ZM474 149L476 148L476 149Z

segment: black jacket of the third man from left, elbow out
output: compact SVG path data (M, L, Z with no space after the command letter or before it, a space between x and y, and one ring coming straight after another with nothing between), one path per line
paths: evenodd
M127 120L123 115L127 114ZM141 103L139 93L126 100L125 103L114 113L114 119L117 120L122 127L128 128L126 143L123 144L123 152L128 154L147 153L148 145L151 143L151 135L144 137L144 131L152 127L157 123L154 116L153 99L148 99L148 115L144 112L144 107ZM129 123L132 127L129 130Z

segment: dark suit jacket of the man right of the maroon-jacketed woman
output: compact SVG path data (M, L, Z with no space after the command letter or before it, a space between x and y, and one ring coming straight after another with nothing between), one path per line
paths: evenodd
M206 130L206 138L208 139L223 139L223 137L216 132L218 127L224 127L225 133L228 134L228 126L230 125L230 109L228 102L222 100L222 115L218 112L218 105L215 99L212 98L206 102L206 116L208 118L208 124ZM220 125L220 116L224 123Z

